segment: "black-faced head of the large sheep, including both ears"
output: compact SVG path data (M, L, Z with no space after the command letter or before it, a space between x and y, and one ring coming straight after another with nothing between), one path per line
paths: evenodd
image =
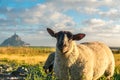
M50 28L47 28L47 31L52 37L57 39L56 47L63 54L69 51L73 40L81 40L85 36L83 33L73 35L69 31L59 31L55 33Z

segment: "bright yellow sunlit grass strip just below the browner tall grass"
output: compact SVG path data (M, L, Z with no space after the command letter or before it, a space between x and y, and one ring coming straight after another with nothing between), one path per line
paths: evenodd
M19 56L19 55L7 55L7 54L0 54L0 60L7 60L7 61L16 61L17 63L25 63L25 64L39 64L44 62L47 58L47 54L45 55L37 55L37 56Z

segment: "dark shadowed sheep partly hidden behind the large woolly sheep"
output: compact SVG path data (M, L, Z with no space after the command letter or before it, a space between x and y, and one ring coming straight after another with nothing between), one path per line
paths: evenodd
M48 56L47 60L45 61L43 69L45 70L46 73L52 73L53 72L54 57L55 57L55 52L52 52Z

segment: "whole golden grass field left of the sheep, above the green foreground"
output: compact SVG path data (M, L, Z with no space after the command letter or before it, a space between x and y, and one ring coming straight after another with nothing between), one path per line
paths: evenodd
M54 50L49 47L0 47L0 63L15 61L35 65L44 62Z

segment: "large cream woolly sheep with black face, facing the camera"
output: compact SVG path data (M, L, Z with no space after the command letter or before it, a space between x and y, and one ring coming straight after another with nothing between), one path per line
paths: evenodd
M109 47L102 42L85 42L77 45L85 34L72 34L69 31L55 33L56 52L54 60L55 76L59 80L97 80L103 74L110 79L114 74L115 61Z

